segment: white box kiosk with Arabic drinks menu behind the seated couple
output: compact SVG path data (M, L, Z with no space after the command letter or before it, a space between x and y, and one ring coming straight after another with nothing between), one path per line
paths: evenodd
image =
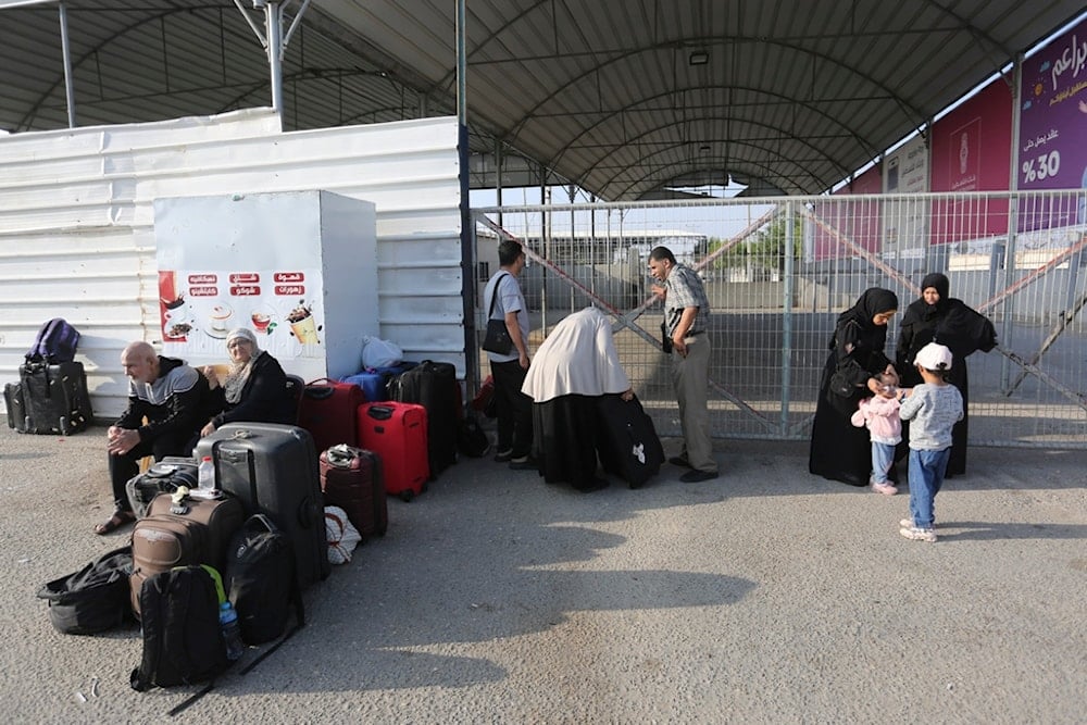
M307 382L359 371L379 333L374 204L328 191L157 199L163 354L229 360L235 327Z

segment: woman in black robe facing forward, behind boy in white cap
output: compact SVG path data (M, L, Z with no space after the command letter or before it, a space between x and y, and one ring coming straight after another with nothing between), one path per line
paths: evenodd
M962 420L951 429L951 458L945 477L961 476L966 472L966 424L970 383L966 375L966 357L976 350L988 352L997 345L997 332L988 317L975 312L962 300L950 296L951 283L939 273L926 275L921 282L921 298L910 303L899 325L897 367L902 385L921 384L921 376L913 360L921 348L929 342L947 346L954 355L947 380L962 393ZM909 454L909 424L902 422L902 443L897 458Z

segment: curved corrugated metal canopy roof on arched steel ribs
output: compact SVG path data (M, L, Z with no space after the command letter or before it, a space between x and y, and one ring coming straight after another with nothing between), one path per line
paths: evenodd
M68 125L61 11L0 5L0 127ZM224 0L67 0L75 122L270 104L267 62ZM17 5L17 7L10 7ZM275 5L273 5L275 7ZM282 3L284 123L455 110L453 0ZM473 150L605 200L723 185L817 193L1041 38L1082 0L466 0ZM473 163L474 180L486 163ZM488 177L493 185L493 176ZM510 184L507 183L507 186Z

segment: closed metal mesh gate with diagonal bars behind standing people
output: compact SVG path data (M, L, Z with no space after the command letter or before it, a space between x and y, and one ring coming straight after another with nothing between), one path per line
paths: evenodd
M647 270L649 250L664 245L699 271L712 307L714 436L799 440L838 313L880 286L899 296L901 316L924 275L944 272L951 297L992 320L999 337L969 359L971 441L1084 448L1084 208L1083 192L1062 191L480 209L476 327L486 327L497 242L514 238L529 260L520 282L530 348L570 312L599 307L658 430L678 435Z

